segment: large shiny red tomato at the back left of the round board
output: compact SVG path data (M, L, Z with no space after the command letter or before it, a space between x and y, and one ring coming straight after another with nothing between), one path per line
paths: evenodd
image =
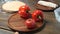
M18 14L23 18L29 18L30 17L29 10L30 8L27 5L21 6L19 8Z

